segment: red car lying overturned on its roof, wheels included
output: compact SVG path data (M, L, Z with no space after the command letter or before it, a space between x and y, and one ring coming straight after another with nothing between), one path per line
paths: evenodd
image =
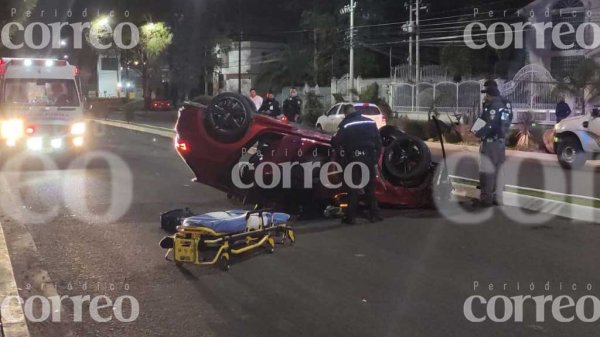
M246 203L290 212L324 208L344 192L340 184L322 182L323 167L331 167L326 164L335 160L331 135L257 114L248 98L233 93L202 103L187 102L176 125L175 147L196 182ZM381 128L380 134L384 145L376 188L380 204L432 206L434 185L447 184L447 178L431 162L427 145L393 126ZM271 165L263 165L257 176L255 168L261 163ZM308 173L307 163L314 166ZM272 184L281 178L277 166L289 169L287 186Z

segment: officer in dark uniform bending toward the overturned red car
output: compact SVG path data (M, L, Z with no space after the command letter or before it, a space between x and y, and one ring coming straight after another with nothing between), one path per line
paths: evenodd
M371 222L383 220L379 214L379 206L375 199L375 178L377 174L377 163L381 155L381 137L377 124L354 109L352 104L343 107L346 117L340 123L337 133L333 136L331 144L338 152L341 164L347 167L351 163L358 162L364 165L354 165L352 168L352 182L359 185L362 178L361 166L366 167L368 172L368 183L363 188L364 198L369 203L369 220ZM345 182L346 183L346 182ZM361 190L346 185L348 191L348 208L343 223L353 224L356 220L356 209L358 207L358 196Z

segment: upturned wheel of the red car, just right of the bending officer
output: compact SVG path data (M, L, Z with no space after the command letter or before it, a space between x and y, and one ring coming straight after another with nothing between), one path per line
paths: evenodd
M383 168L400 181L419 181L431 167L431 152L422 140L400 135L385 148Z

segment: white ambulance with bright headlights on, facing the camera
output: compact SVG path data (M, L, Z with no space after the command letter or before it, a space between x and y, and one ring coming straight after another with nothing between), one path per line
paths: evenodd
M0 149L83 148L79 69L65 60L0 59Z

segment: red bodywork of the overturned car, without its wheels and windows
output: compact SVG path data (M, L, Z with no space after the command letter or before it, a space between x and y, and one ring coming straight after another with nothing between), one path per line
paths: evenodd
M230 195L248 197L248 191L239 190L232 183L231 172L243 156L243 149L248 149L258 139L275 139L269 151L264 153L263 160L274 163L306 161L322 159L331 153L331 136L321 132L301 128L295 124L279 121L267 116L254 114L244 136L234 142L215 140L206 128L205 114L207 107L188 103L179 111L176 125L177 136L175 146L196 176L195 181L212 186ZM303 156L298 156L302 153ZM314 156L317 153L318 156ZM305 154L313 154L306 157ZM381 159L380 159L381 164ZM376 197L381 204L420 208L432 205L432 181L434 166L423 182L416 187L403 187L393 184L381 173L377 176ZM381 167L381 165L380 165ZM265 171L265 174L268 174ZM339 189L328 189L322 185L314 185L305 193L279 190L260 191L258 199L282 201L302 196L318 200L321 204L331 204ZM249 200L252 203L265 200Z

